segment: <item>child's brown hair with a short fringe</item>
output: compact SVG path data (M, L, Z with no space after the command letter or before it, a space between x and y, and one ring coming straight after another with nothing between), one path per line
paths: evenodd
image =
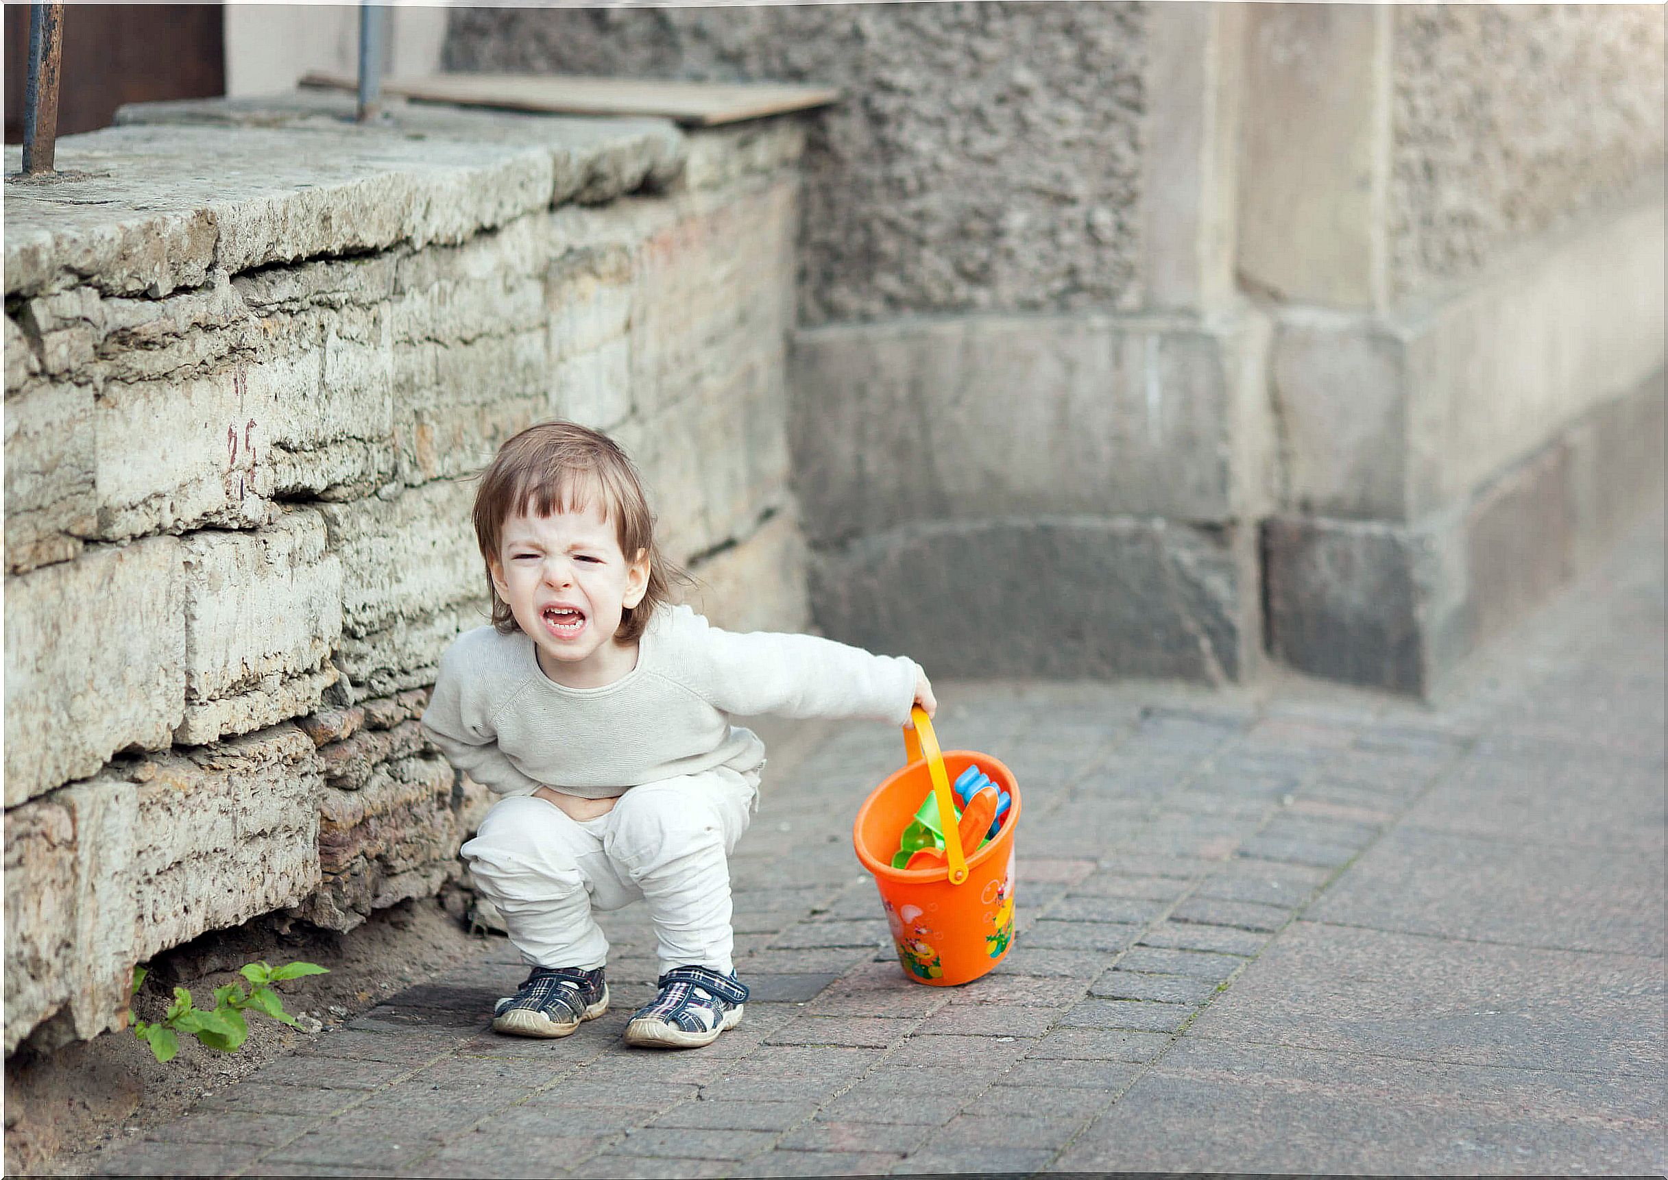
M671 602L672 582L687 580L661 558L642 478L619 443L574 422L540 422L499 447L475 490L475 540L487 563L492 625L505 635L517 630L515 615L492 585L492 563L499 560L504 522L517 512L537 517L584 512L592 495L602 497L602 515L614 522L614 535L626 560L631 562L639 552L649 555L649 588L642 602L620 615L620 627L614 633L617 643L637 640L654 608Z

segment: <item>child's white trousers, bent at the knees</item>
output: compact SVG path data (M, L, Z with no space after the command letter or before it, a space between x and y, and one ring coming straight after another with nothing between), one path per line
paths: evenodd
M756 773L719 767L632 787L594 820L515 795L492 805L462 855L530 965L602 967L609 940L592 910L644 898L661 973L729 973L729 853L747 830L757 790Z

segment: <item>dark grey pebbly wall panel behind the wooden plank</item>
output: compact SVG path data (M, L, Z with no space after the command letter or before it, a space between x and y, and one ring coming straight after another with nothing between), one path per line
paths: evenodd
M1139 5L457 10L449 70L777 80L811 125L807 323L1138 302Z

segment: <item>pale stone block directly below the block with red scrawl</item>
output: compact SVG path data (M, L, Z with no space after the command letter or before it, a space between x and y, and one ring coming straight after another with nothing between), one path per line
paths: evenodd
M342 563L317 512L257 533L183 538L185 722L175 740L212 742L312 712L335 682Z

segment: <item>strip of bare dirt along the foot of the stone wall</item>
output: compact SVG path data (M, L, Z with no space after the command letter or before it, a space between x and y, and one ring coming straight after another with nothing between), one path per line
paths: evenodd
M112 1143L178 1118L203 1093L294 1052L315 1035L309 1028L340 1025L445 970L479 950L482 938L499 937L469 933L467 900L454 890L402 902L349 933L265 917L158 955L133 1005L142 1018L160 1017L175 987L212 1007L214 988L242 982L237 970L257 960L274 967L305 960L330 973L279 985L284 1008L302 1028L250 1012L249 1040L235 1053L180 1037L178 1057L163 1065L125 1028L53 1052L25 1042L5 1063L7 1175L85 1175Z

